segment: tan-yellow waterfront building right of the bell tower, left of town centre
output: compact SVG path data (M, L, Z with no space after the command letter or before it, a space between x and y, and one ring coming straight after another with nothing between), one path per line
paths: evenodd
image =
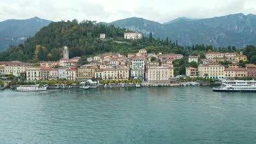
M77 69L78 75L77 79L82 80L82 79L92 79L94 77L94 73L97 70L96 65L82 65L80 68Z

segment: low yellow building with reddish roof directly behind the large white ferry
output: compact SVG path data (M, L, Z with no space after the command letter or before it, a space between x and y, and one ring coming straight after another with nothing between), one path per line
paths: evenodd
M247 77L246 68L225 68L225 78L236 79L238 77Z

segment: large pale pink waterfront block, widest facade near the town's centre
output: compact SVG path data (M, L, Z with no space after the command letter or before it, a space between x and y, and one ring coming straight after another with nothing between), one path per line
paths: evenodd
M173 75L173 68L170 67L149 67L148 81L167 81Z

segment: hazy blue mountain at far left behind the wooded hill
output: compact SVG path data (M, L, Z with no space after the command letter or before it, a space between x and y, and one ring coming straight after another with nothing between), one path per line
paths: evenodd
M24 43L28 37L33 37L42 27L52 21L33 17L26 20L5 20L0 22L0 51L9 45Z

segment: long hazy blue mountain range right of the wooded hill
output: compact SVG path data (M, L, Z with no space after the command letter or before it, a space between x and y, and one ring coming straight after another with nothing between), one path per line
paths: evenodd
M181 45L207 44L216 47L256 45L256 15L232 14L209 19L178 19L159 23L131 17L106 25L124 27L144 35L153 33L154 38L178 40Z

